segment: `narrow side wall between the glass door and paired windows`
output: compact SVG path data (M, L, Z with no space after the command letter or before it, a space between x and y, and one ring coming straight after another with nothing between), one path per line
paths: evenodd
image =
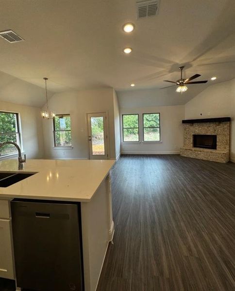
M119 104L117 99L117 94L114 90L114 127L115 127L115 150L116 159L120 157L121 154L121 140L120 140L120 118L119 118Z

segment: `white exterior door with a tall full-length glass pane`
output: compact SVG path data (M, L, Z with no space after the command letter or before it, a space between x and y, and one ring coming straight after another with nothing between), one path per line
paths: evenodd
M88 139L91 160L107 160L106 113L89 113Z

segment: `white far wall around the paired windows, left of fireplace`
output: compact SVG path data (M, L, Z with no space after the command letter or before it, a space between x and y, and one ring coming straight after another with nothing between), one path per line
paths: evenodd
M121 108L122 114L139 114L139 143L123 143L121 134L121 152L123 154L174 154L179 153L183 146L182 119L185 117L185 107L179 106L155 106L141 108ZM160 113L161 143L143 142L143 113ZM120 125L122 132L122 122Z

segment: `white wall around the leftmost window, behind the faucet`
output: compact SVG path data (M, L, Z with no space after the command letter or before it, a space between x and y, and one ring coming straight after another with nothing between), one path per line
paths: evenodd
M40 109L0 101L0 111L11 111L20 114L23 149L27 159L43 158L44 144Z

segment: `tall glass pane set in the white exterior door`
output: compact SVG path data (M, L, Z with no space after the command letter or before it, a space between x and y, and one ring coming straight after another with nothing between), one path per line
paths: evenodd
M103 117L91 117L92 154L105 155Z

